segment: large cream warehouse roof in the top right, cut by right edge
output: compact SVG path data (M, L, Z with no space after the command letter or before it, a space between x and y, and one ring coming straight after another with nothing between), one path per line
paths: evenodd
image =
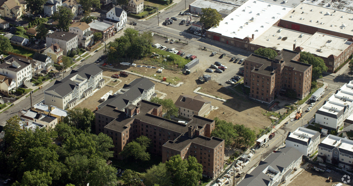
M352 13L306 3L294 10L283 16L282 20L353 35Z

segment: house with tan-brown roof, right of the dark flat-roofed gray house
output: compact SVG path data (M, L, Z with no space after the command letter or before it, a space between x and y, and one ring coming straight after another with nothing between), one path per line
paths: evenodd
M76 22L69 28L69 32L77 34L78 45L88 47L93 43L93 31L85 22Z

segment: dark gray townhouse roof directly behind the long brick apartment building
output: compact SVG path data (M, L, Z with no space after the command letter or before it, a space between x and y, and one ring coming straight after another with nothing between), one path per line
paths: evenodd
M123 89L128 89L124 94L118 94L114 96L109 96L106 101L101 103L98 108L101 108L105 105L111 105L116 107L118 110L125 108L130 101L136 100L144 90L149 90L155 84L152 83L147 78L138 78L133 80L129 84L125 84Z

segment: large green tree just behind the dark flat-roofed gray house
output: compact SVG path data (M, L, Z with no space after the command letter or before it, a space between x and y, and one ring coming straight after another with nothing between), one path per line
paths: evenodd
M83 4L82 4L83 5ZM65 6L59 6L58 10L53 15L54 20L58 20L58 29L68 31L73 19L73 13Z

